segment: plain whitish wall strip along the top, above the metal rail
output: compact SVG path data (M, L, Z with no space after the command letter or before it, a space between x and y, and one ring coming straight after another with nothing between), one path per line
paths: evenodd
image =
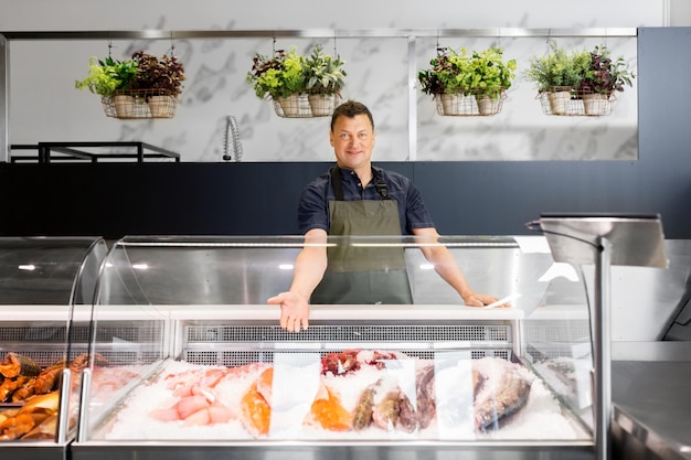
M672 0L681 8L685 0ZM623 28L668 0L0 0L0 30Z

